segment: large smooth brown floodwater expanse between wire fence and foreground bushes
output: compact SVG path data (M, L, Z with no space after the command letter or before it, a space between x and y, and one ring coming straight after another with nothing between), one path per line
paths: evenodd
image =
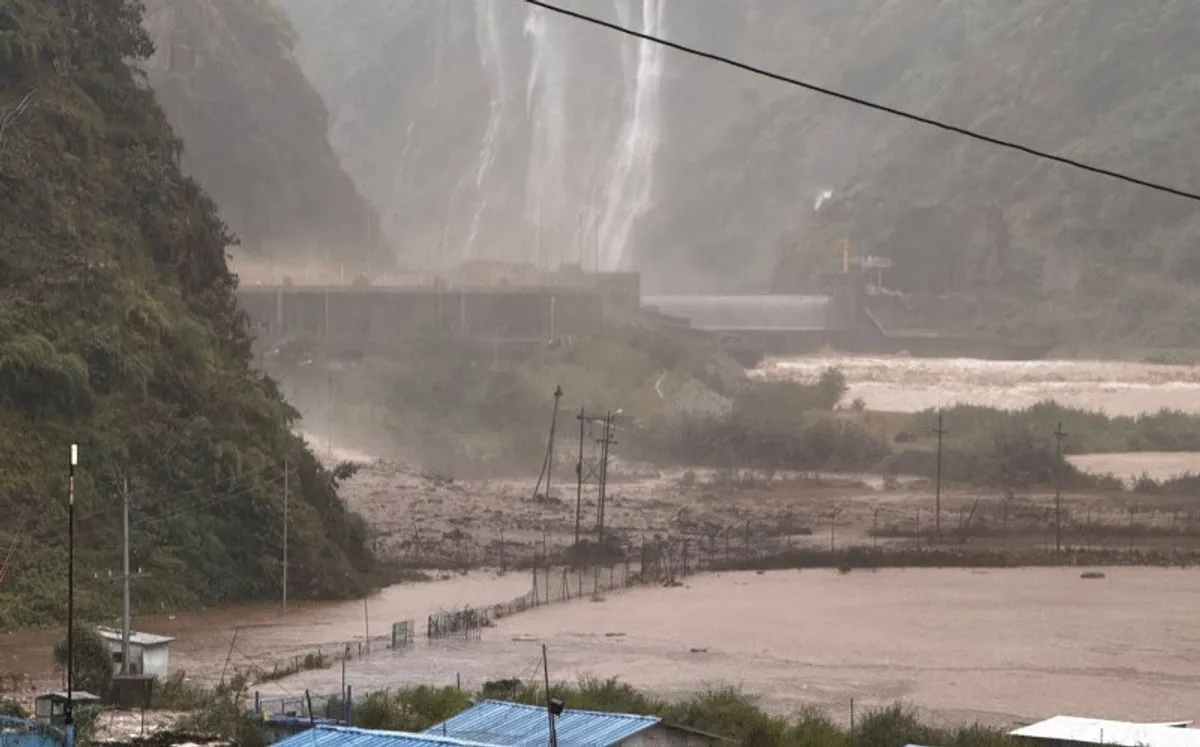
M502 620L479 641L418 641L352 663L359 692L400 683L620 677L664 695L734 685L775 711L848 718L898 700L950 722L1056 713L1195 716L1200 573L1110 568L833 570L698 576ZM280 692L337 692L341 670ZM264 692L264 695L280 693Z

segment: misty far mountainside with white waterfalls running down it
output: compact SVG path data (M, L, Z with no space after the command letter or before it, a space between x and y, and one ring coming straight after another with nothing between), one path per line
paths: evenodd
M335 148L419 258L599 256L652 287L786 288L846 238L893 257L886 282L906 292L1091 298L1096 268L1138 287L1200 280L1200 214L1178 198L521 2L275 2L295 20ZM1200 114L1188 37L1200 8L1186 0L562 5L1200 189L1186 137Z

